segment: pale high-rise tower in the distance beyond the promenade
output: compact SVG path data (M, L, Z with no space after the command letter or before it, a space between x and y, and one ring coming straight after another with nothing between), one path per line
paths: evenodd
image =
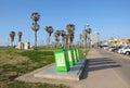
M91 34L91 46L98 47L99 43L100 43L100 34L99 33Z

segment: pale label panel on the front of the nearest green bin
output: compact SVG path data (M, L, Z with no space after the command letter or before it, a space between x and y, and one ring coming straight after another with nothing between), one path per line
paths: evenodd
M56 65L57 66L65 66L64 53L55 54L55 58L56 58Z

